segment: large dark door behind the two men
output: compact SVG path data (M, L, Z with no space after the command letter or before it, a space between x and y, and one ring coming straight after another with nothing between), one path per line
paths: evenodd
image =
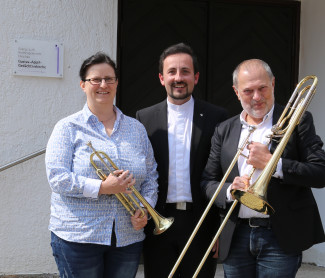
M120 0L117 105L132 117L166 98L158 61L168 46L184 42L198 56L194 96L241 111L232 72L244 59L269 63L275 98L285 104L297 83L300 2L216 0Z

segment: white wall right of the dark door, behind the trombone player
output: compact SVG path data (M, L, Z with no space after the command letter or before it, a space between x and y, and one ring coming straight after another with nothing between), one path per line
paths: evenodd
M317 93L309 110L313 113L316 131L325 142L325 1L301 0L300 72L318 77ZM325 189L314 189L314 195L325 228ZM304 252L305 262L325 266L325 243L313 246Z

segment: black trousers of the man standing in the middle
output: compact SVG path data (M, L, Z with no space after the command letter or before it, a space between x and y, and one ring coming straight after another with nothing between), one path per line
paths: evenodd
M192 234L197 220L193 220L191 210L167 209L165 216L173 216L173 225L161 235L154 236L152 231L144 241L143 259L145 278L167 278L187 240ZM217 225L217 222L216 222ZM201 227L190 248L173 277L192 277L212 241L211 231ZM198 277L213 278L217 260L211 253Z

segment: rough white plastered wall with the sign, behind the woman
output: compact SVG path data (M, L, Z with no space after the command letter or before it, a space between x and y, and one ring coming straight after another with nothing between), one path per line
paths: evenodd
M43 149L54 124L82 109L78 72L99 50L114 60L117 0L0 0L0 166ZM59 41L64 77L13 76L15 39ZM0 274L57 272L47 229L44 155L0 173Z

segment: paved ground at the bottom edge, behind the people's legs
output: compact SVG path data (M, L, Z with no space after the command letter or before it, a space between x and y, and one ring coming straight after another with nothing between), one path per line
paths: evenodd
M1 278L58 278L56 274L31 274L31 275L0 275ZM140 265L136 278L143 278L143 265ZM222 278L222 265L218 265L215 278ZM325 267L318 267L309 264L303 264L299 269L296 278L324 278Z

